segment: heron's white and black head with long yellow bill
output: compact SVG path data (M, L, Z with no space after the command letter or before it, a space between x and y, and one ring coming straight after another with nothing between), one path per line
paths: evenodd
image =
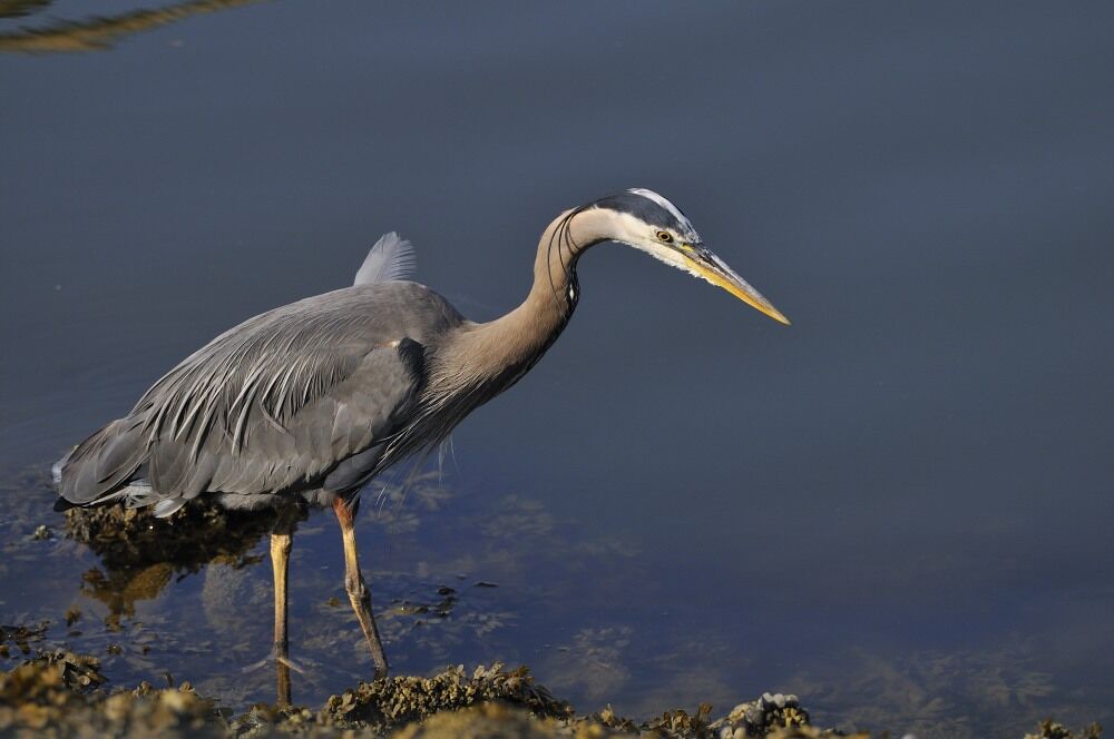
M774 321L789 324L778 308L704 246L700 234L677 206L654 193L633 188L587 206L603 216L599 238L642 249L667 265L722 287Z

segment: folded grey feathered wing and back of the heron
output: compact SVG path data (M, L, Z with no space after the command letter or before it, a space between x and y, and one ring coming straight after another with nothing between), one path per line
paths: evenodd
M345 288L251 318L79 445L59 492L77 504L155 503L312 489L331 473L362 484L375 462L369 450L413 411L423 342L460 319L413 283Z

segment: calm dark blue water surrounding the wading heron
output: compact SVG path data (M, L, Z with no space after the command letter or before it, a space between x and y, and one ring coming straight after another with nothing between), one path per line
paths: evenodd
M22 7L0 49L136 3ZM364 505L393 667L525 661L631 715L773 689L918 736L1114 720L1108 6L285 0L105 28L0 56L0 622L50 619L123 682L270 698L265 548L114 575L29 539L62 531L49 461L384 230L485 319L558 210L644 186L794 325L589 254L568 331L440 482ZM317 514L302 702L370 674L341 572ZM402 603L443 587L447 617Z

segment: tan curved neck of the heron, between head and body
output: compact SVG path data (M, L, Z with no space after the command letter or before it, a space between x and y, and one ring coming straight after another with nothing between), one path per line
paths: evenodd
M514 384L557 339L576 308L576 263L607 239L598 210L566 210L538 242L534 285L521 305L489 323L467 325L447 347L456 373ZM502 390L499 388L499 390ZM498 391L497 391L498 392Z

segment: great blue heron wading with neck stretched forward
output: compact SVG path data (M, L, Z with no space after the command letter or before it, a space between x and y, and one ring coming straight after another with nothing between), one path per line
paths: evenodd
M344 540L344 587L375 678L383 678L387 658L352 523L360 490L442 442L541 358L576 307L577 259L600 242L642 249L789 323L652 190L626 190L559 215L541 235L526 300L490 323L468 321L409 282L413 249L388 234L354 285L221 334L156 382L127 416L81 442L55 466L55 508L124 501L169 515L203 494L231 508L331 505ZM280 702L290 700L291 536L284 522L271 539Z

